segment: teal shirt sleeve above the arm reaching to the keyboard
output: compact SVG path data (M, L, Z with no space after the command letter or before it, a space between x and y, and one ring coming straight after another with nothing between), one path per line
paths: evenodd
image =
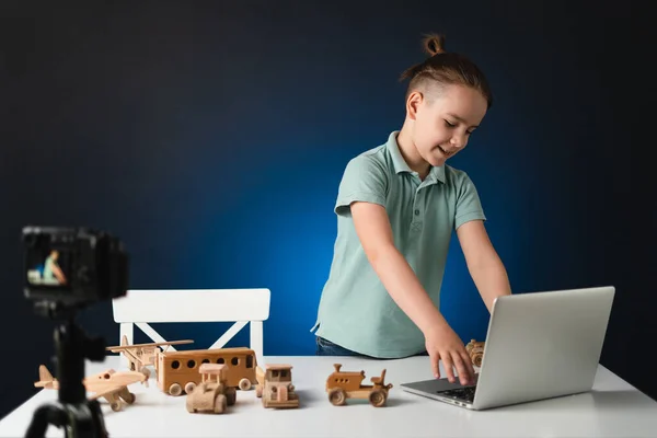
M379 204L385 207L388 187L383 166L368 155L351 159L339 183L335 212L349 215L354 201Z

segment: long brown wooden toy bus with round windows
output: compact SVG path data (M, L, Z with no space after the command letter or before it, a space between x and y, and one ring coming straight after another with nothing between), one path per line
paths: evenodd
M200 383L203 364L228 367L228 385L242 391L257 383L255 351L246 347L161 351L157 359L158 388L171 395L189 394Z

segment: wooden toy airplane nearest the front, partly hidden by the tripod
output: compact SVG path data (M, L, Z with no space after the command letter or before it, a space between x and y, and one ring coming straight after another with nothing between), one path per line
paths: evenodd
M59 389L59 382L53 377L45 365L38 367L38 382L34 382L34 387L36 388ZM108 369L87 377L82 381L84 389L93 393L90 400L103 397L110 403L112 411L120 411L122 400L127 404L135 403L135 394L128 391L128 385L137 382L141 382L148 387L148 376L138 371L116 372L113 369Z

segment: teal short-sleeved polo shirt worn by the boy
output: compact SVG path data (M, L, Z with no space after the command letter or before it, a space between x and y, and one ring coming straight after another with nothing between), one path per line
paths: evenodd
M344 348L379 358L419 354L425 339L370 265L356 234L350 204L385 207L396 249L438 309L453 231L468 221L486 219L465 172L446 164L431 168L420 181L400 153L397 134L393 131L387 143L351 159L344 171L335 203L334 256L311 330Z

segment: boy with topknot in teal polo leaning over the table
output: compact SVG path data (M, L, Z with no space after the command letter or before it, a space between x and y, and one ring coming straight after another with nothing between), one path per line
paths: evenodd
M506 269L484 228L474 184L446 164L492 105L481 70L425 39L430 57L407 69L406 118L385 145L347 164L335 205L337 239L318 312L319 355L400 358L427 353L454 382L472 383L463 342L439 311L456 229L469 272L491 311L510 295Z

